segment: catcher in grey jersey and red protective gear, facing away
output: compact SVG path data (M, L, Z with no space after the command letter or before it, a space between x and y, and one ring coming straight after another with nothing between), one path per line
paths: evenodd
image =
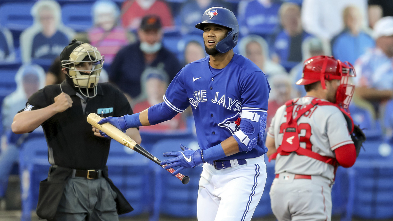
M312 57L296 83L304 85L307 95L287 101L275 113L266 147L269 160L276 160L270 199L279 221L331 220L337 166L353 166L362 143L351 138L360 129L344 110L354 91L349 77L355 77L352 64Z

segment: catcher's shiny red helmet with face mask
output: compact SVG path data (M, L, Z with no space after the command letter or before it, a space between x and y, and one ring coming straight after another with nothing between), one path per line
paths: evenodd
M333 56L320 55L304 62L302 78L296 84L309 85L321 81L322 88L326 89L325 80L340 80L336 92L336 104L347 109L355 90L355 86L349 83L349 77L356 77L351 63L341 62Z

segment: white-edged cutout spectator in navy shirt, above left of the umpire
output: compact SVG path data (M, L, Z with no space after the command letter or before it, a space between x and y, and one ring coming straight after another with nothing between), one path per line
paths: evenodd
M20 35L23 63L50 64L72 39L74 31L61 22L61 8L54 0L39 0L31 9L33 26Z

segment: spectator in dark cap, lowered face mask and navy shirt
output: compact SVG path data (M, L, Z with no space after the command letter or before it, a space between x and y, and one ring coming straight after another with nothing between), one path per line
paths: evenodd
M162 45L162 24L156 15L142 18L138 29L139 41L125 46L112 62L109 79L128 98L141 93L141 75L147 67L162 68L171 81L182 68L176 56Z

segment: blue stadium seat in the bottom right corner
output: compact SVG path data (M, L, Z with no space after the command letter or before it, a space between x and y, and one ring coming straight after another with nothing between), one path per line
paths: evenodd
M353 215L362 219L392 219L392 161L358 160L354 169L356 175Z

